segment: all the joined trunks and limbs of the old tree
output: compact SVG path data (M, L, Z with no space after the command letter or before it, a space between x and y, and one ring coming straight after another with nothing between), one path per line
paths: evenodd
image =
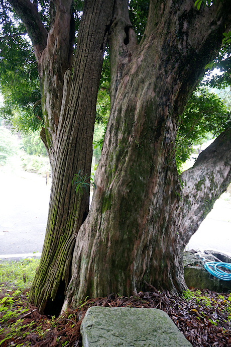
M138 45L126 0L85 0L73 66L71 1L51 1L49 33L36 4L10 2L38 60L45 118L41 137L53 167L46 238L29 301L40 311L59 313L75 238L64 307L78 305L87 295L135 294L147 282L181 292L185 242L230 181L230 156L222 152L230 149L230 133L205 152L214 154L213 176L210 158L203 154L179 180L174 159L178 115L204 65L217 54L222 33L230 30L231 1L198 12L189 0L151 0ZM76 194L71 182L79 170L90 176L109 29L111 113L88 214L89 191ZM195 183L197 175L206 180L199 177Z

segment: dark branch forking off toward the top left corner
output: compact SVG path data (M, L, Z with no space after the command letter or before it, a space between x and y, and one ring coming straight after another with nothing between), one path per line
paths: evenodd
M31 38L36 59L39 60L47 45L48 32L40 19L36 4L32 4L29 0L9 0L9 2L22 19Z

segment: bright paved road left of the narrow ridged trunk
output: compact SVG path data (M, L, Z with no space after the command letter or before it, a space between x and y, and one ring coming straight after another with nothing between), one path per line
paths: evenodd
M25 171L0 171L0 255L41 252L50 185Z

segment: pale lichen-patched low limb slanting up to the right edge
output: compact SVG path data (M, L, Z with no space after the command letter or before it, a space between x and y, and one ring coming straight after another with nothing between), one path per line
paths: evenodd
M231 182L231 129L223 132L180 176L182 200L177 225L184 246Z

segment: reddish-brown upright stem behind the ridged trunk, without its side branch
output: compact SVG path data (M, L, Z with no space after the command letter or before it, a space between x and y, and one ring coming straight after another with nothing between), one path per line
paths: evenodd
M53 9L53 20L47 45L38 61L42 94L42 109L46 128L51 166L57 149L57 130L63 99L64 74L71 68L70 30L72 0L58 4ZM51 5L52 6L52 5Z

